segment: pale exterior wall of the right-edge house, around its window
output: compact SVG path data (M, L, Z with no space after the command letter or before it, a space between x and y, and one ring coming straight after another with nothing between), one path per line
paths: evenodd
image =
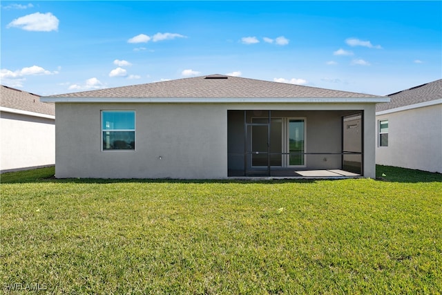
M378 146L376 164L442 173L442 104L376 116L388 120L388 146Z

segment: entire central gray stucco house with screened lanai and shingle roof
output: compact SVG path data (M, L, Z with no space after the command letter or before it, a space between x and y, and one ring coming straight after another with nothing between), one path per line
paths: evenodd
M375 177L388 97L209 75L43 97L57 178Z

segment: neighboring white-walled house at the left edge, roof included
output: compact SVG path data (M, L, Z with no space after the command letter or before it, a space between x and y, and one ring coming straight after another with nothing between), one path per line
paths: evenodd
M55 164L55 105L38 95L1 85L0 171Z

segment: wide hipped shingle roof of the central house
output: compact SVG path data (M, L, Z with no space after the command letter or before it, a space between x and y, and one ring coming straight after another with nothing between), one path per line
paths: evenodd
M133 86L52 95L51 97L380 97L224 75L209 75Z

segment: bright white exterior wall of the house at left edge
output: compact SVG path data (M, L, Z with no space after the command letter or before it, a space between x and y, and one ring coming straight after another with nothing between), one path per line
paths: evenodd
M55 164L55 120L0 113L1 172Z

